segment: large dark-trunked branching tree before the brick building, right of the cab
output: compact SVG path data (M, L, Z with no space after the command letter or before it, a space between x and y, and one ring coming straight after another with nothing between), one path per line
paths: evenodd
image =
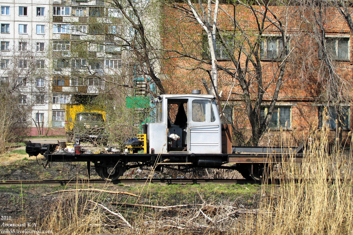
M210 24L211 3L214 4L215 10L214 20ZM207 3L199 1L197 7L191 2L166 4L173 11L176 10L178 14L181 14L181 17L177 19L179 22L177 21L174 26L170 26L170 31L173 34L178 32L179 25L191 25L196 21L202 26L201 34L205 32L208 37L208 47L205 48L202 41L197 41L186 34L173 35L178 42L177 45L181 46L166 50L168 52L166 60L180 57L186 60L191 59L197 65L184 67L185 69L201 69L208 74L210 74L208 66L211 66L213 79L213 76L217 75L213 71L213 66L216 64L219 81L220 76L225 79L226 75L235 79L237 84L231 91L232 96L236 95L243 101L251 126L251 137L247 144L257 145L270 124L281 86L285 81L287 61L293 51L289 47L289 41L292 41L291 47L294 48L295 44L294 37L290 38L288 31L293 33L298 28L288 28L292 20L291 15L296 12L295 7L283 4L282 10L279 12L270 5L270 2L264 1L256 1L254 5L246 1L231 2L231 7L229 5L218 6L219 3L213 1ZM208 13L205 13L204 6L207 6ZM217 9L220 11L218 14ZM244 20L242 18L244 15L249 19ZM221 17L222 21L217 22L217 16ZM249 27L250 21L255 22L255 28ZM168 32L165 33L168 35ZM265 49L266 40L274 42L276 52L269 48ZM187 46L193 43L198 45L199 50L203 50L202 57L200 57L199 50L195 50L195 48L190 50L190 47ZM213 50L215 55L212 55ZM267 51L271 51L271 53L267 54ZM220 52L222 52L222 56L219 55ZM226 62L217 62L217 56L218 59L222 57ZM269 72L270 69L271 72ZM208 85L204 81L203 84L209 92ZM265 114L261 113L264 99L270 100L268 111ZM285 127L285 123L282 126Z

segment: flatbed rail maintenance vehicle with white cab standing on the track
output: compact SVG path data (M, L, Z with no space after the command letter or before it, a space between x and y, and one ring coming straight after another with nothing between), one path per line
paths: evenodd
M154 122L143 124L142 134L124 142L123 150L107 148L106 152L94 154L76 146L74 153L62 153L57 151L58 144L29 143L26 152L29 156L44 155L47 163L87 162L88 175L92 162L98 175L111 181L136 167L181 172L234 169L245 179L262 180L270 166L285 161L302 162L303 146L232 147L231 126L221 122L219 98L197 91L155 98Z

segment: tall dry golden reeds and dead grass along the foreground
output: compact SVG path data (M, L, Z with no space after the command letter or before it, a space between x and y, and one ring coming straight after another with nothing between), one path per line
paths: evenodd
M202 193L197 195L201 204L181 208L116 207L111 202L129 203L130 198L76 192L62 194L43 229L65 235L353 234L352 153L328 155L325 131L314 130L304 162L283 163L281 185L263 184L256 208L238 208L204 198ZM140 194L139 204L149 204L151 192L147 192Z

